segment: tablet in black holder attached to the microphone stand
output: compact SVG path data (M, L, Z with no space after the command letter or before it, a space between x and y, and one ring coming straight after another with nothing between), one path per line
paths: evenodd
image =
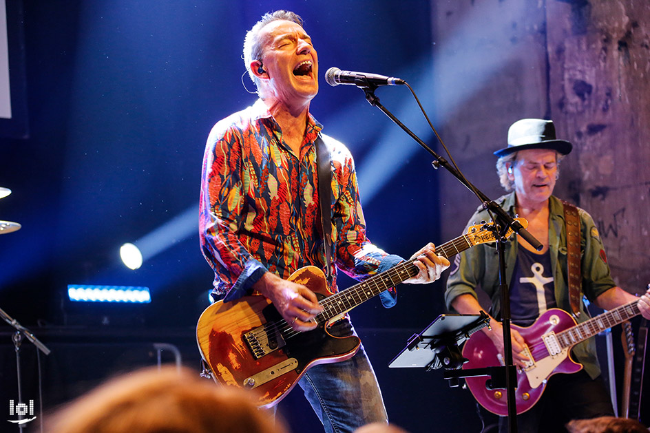
M467 361L461 355L459 344L485 326L490 326L490 316L483 311L480 315L439 315L422 332L408 340L406 348L390 361L388 367L424 367L430 371L444 366L445 369L458 370ZM450 382L450 386L454 385Z

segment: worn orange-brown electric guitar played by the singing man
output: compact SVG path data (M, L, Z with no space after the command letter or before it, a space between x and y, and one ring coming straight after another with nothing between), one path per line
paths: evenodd
M517 220L524 227L528 224L523 218ZM436 252L449 258L474 245L494 242L490 225L470 226L465 235L437 246ZM511 234L512 229L505 236ZM215 302L202 313L196 326L201 356L217 383L253 390L260 406L271 407L286 396L308 368L355 355L359 338L333 337L327 327L362 302L417 275L419 268L414 261L401 262L335 294L328 291L319 268L306 266L295 271L289 281L307 286L324 308L315 317L317 328L306 332L293 330L262 295Z

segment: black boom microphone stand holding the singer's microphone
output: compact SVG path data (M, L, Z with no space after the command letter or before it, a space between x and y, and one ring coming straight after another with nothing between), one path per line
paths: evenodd
M512 361L512 340L510 339L510 294L508 293L508 286L505 281L505 242L507 242L507 238L504 236L505 233L507 232L508 228L512 228L512 230L523 239L525 239L528 243L530 243L537 251L540 251L543 246L542 244L533 237L528 231L521 225L520 222L514 220L506 211L501 209L501 207L496 204L493 200L490 200L483 192L481 192L479 189L474 187L473 184L470 183L469 180L465 178L459 171L453 167L452 165L449 164L445 158L442 158L438 154L436 154L430 147L428 147L413 131L408 129L403 123L399 121L398 118L393 116L391 112L384 107L384 105L381 105L379 102L379 98L375 96L375 89L377 89L377 85L374 85L372 83L369 83L366 81L364 84L357 83L357 87L362 89L364 93L366 94L366 101L370 105L373 105L373 107L377 107L390 118L395 124L403 131L406 132L417 144L419 144L423 149L428 151L430 155L432 155L435 159L432 162L432 166L434 169L438 169L438 167L444 167L452 173L452 175L459 180L465 187L470 189L478 198L481 200L483 203L483 209L487 209L489 212L492 212L494 214L494 228L496 231L499 231L498 235L496 236L497 242L496 242L496 249L499 254L499 289L501 290L501 318L503 321L503 351L505 352L505 366L503 366L502 369L505 369L505 387L507 390L507 408L508 408L508 432L516 433L517 431L517 410L516 410L516 401L515 401L515 395L514 395L514 390L516 388L516 368L514 366L514 363ZM497 233L495 232L495 235Z

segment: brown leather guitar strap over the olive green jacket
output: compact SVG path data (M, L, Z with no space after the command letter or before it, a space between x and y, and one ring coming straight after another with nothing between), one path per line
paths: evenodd
M562 200L567 226L567 272L569 273L569 304L576 317L580 315L582 272L580 270L580 215L578 208Z

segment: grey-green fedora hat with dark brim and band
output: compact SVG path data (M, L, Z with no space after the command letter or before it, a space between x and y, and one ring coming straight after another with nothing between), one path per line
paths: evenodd
M572 148L570 142L556 138L553 120L521 119L508 129L508 147L494 155L501 157L525 149L554 149L566 155Z

